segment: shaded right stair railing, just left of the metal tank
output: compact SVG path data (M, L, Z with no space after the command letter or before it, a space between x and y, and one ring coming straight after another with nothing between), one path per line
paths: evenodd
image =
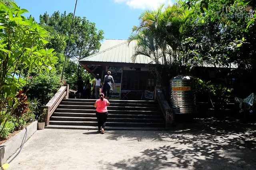
M169 106L166 101L162 90L155 88L155 100L159 103L162 113L165 117L165 128L174 126L174 110Z

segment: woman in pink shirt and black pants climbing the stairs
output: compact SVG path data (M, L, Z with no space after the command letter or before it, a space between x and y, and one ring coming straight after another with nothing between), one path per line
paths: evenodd
M94 107L96 107L96 117L98 120L98 132L105 133L104 128L106 125L106 121L108 118L108 110L107 106L109 106L110 103L108 100L104 99L104 94L100 94L100 99L96 100Z

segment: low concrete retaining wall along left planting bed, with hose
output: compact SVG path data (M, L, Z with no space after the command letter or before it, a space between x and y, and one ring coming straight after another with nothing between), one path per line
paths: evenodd
M28 125L27 129L28 131L26 141L37 131L37 121L34 121ZM10 158L10 156L12 156L18 149L20 149L22 141L24 140L25 132L26 129L23 129L0 146L0 165L6 163L8 158Z

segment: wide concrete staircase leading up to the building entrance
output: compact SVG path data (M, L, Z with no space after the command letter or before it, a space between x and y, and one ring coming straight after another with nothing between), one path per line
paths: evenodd
M63 99L46 128L98 129L95 101ZM164 118L154 101L110 100L106 129L164 130Z

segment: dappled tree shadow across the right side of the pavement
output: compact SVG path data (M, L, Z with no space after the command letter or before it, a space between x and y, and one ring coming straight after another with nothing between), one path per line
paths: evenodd
M203 119L170 131L110 133L108 139L170 141L140 156L108 164L109 169L256 170L256 126L238 121Z

